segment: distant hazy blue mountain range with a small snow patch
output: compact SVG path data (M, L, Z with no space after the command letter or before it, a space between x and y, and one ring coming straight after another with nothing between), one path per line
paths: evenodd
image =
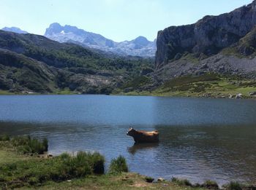
M52 23L45 31L45 36L59 42L72 42L91 47L105 52L113 52L118 55L134 55L140 57L154 57L156 52L156 41L148 41L139 36L132 41L116 42L106 39L97 33L84 31L75 26Z

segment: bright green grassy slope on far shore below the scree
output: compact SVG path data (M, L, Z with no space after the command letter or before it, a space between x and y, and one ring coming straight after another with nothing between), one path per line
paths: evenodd
M241 93L243 98L255 98L249 96L249 92L255 91L255 80L204 74L202 76L181 76L170 79L151 92L134 90L121 93L121 95L229 98L230 95L236 96Z

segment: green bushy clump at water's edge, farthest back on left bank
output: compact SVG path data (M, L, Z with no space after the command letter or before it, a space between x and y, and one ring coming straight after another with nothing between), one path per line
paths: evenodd
M48 151L48 140L37 140L28 136L18 136L11 139L12 145L22 154L43 154Z

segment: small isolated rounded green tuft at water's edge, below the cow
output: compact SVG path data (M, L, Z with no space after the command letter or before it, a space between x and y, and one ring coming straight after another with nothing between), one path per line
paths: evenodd
M127 173L128 172L128 166L127 161L124 157L119 156L116 159L112 159L110 162L110 168L108 173L110 174L118 174L118 173Z

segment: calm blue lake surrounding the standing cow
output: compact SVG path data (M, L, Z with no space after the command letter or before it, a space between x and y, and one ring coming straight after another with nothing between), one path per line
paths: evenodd
M159 130L159 143L134 145L129 127ZM49 153L123 155L129 170L256 183L256 100L108 95L1 95L0 133L48 138Z

